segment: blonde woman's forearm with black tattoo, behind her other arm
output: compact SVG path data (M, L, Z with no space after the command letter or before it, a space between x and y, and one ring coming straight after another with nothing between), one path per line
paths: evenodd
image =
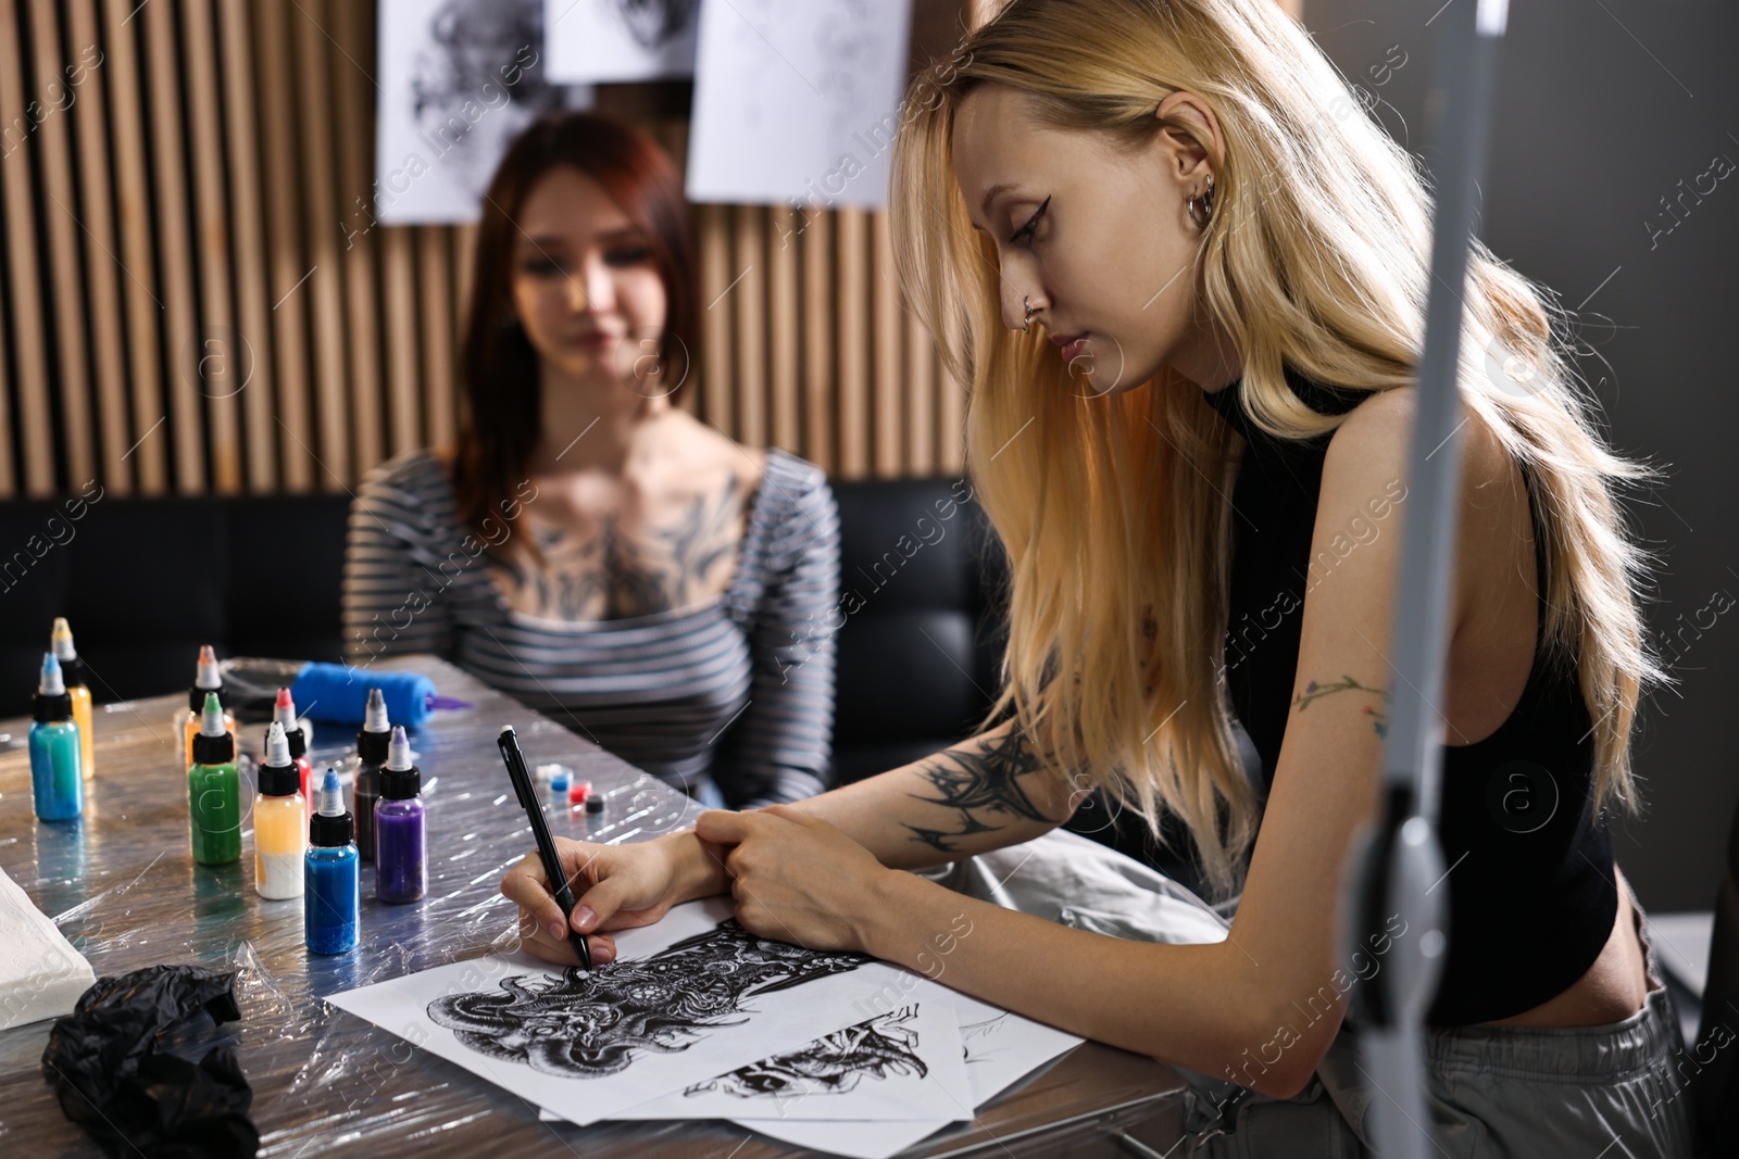
M883 865L923 869L1050 832L1082 796L1003 723L791 808L845 831Z

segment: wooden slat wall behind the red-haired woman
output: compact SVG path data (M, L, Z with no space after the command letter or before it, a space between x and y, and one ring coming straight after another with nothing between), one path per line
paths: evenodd
M350 490L452 438L475 228L372 224L374 42L351 0L0 0L0 499ZM682 163L636 89L600 106ZM696 226L683 407L840 478L962 469L885 214Z

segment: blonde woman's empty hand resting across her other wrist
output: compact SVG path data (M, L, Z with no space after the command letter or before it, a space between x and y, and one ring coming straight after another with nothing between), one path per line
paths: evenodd
M725 850L737 921L812 950L863 950L880 886L899 874L845 832L786 805L701 813L696 832Z

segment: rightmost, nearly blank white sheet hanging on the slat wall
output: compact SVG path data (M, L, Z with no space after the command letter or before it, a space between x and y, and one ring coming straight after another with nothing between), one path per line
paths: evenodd
M701 7L689 141L694 202L887 202L911 0Z

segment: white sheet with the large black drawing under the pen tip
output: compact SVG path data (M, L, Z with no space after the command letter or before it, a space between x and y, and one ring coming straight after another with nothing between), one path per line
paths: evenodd
M327 1001L579 1124L885 1010L896 970L744 935L729 898L616 935L591 975L494 954ZM727 924L720 924L727 923Z

